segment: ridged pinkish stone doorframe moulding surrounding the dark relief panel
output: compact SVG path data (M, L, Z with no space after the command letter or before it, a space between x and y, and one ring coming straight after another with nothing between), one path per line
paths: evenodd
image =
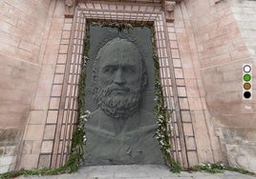
M75 2L75 1L73 1ZM68 5L66 5L68 6ZM73 7L71 7L73 8ZM71 16L66 16L71 17ZM154 24L157 52L160 59L160 78L163 87L163 95L168 112L172 113L168 129L172 130L172 152L181 166L189 166L189 154L185 143L181 110L183 109L178 94L177 80L170 48L169 36L175 32L167 31L174 29L174 24L166 24L166 19L161 6L146 6L115 3L78 3L73 18L72 31L69 40L67 63L63 90L60 99L60 108L56 122L53 139L53 151L51 155L51 167L57 168L64 165L67 160L72 139L72 131L75 128L77 117L77 104L75 98L78 93L78 77L83 54L83 38L86 33L87 19L125 21L128 23ZM179 78L179 79L178 79ZM156 121L157 122L157 121ZM44 139L43 139L44 140ZM195 142L195 141L194 141ZM189 150L197 158L197 150ZM40 154L40 157L44 153ZM39 159L40 163L40 159ZM40 165L39 165L40 166Z

